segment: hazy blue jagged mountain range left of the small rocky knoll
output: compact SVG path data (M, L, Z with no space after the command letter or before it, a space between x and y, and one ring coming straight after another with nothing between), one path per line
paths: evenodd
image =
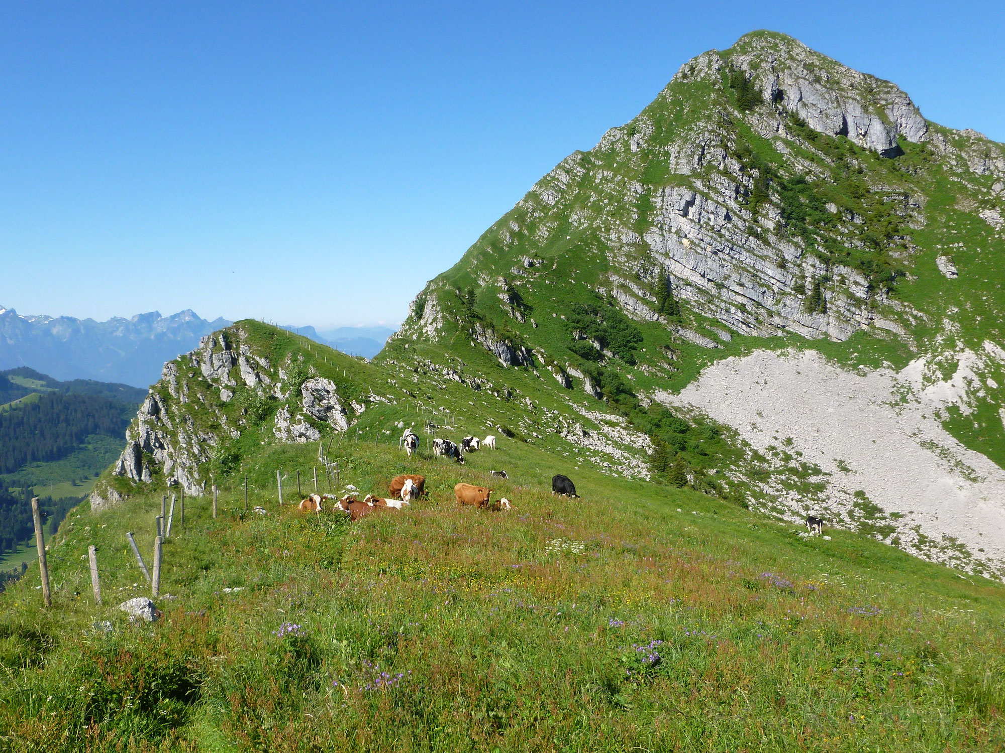
M0 306L0 368L30 366L57 380L88 379L146 388L165 361L194 348L229 321L207 321L186 309L108 321L21 316Z

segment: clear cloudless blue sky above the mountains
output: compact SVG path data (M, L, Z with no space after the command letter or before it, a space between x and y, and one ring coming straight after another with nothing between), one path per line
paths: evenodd
M396 323L563 157L770 28L1005 141L1005 4L6 3L0 304Z

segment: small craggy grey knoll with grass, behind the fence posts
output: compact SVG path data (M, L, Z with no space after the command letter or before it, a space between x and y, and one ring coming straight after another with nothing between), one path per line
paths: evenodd
M113 475L199 496L213 464L225 463L228 443L249 428L264 429L280 442L317 441L322 432L345 432L350 410L335 383L306 365L303 355L273 363L244 327L228 327L164 365L127 431ZM129 484L98 483L91 507L121 501L128 490Z

